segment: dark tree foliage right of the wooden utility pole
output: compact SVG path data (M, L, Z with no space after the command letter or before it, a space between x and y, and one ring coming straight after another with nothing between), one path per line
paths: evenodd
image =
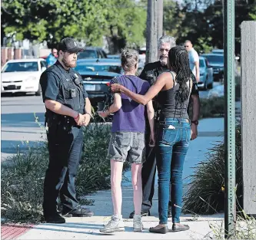
M235 51L241 51L241 22L256 19L255 0L235 0ZM165 1L164 29L182 44L191 40L198 51L223 48L223 5L216 0Z

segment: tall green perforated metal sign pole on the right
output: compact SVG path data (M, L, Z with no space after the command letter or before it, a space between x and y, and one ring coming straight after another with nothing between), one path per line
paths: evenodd
M231 238L236 222L235 198L235 91L234 91L234 0L223 0L224 20L224 236Z

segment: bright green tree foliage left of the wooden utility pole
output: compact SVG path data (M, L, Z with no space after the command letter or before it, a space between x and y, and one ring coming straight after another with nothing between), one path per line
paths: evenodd
M103 36L116 36L138 45L145 41L145 21L145 5L134 0L2 1L2 35L16 40L56 44L69 36L99 45Z

